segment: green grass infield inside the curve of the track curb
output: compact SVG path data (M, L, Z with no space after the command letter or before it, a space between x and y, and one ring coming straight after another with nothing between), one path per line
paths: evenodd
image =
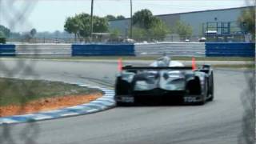
M99 92L64 82L0 78L0 106L23 105L39 98Z

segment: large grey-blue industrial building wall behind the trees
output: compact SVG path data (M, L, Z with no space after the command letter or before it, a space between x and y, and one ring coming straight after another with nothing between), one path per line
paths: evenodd
M234 33L241 34L241 26L238 26L238 17L242 14L242 10L250 9L253 6L235 7L220 10L203 10L178 14L162 14L156 15L158 18L166 22L167 26L173 27L177 21L185 22L192 26L194 36L204 36L208 28L215 28L217 33L230 34L230 29L235 30ZM213 25L216 25L213 27ZM120 30L122 36L128 35L130 28L130 18L122 20L110 21L110 29Z

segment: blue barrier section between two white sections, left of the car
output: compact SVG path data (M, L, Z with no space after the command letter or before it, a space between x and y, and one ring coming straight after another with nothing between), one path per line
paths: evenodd
M72 56L134 55L133 44L74 44Z

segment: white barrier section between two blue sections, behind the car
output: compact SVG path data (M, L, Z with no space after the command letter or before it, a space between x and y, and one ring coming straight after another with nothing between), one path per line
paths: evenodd
M203 42L158 42L136 43L135 55L162 55L204 57L205 44Z

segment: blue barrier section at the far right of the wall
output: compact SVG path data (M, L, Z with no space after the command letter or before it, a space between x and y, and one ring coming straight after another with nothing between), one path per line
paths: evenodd
M252 42L207 42L206 57L254 57L255 43Z

